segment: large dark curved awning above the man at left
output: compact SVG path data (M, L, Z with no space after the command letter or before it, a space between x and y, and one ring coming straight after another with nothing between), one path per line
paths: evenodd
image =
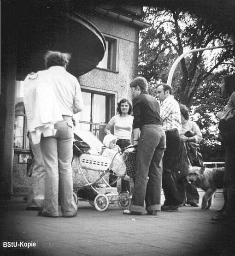
M41 13L30 9L17 19L17 80L45 69L48 50L72 55L68 71L76 77L91 71L103 59L106 42L101 32L76 13Z

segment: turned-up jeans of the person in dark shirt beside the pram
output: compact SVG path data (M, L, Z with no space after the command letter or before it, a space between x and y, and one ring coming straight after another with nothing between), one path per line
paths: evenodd
M130 210L161 209L162 157L165 132L161 125L143 125L137 147L136 177ZM149 179L148 179L149 177Z

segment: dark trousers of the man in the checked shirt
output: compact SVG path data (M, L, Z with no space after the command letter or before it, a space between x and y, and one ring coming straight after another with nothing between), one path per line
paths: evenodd
M166 150L163 156L162 188L165 195L164 205L182 204L183 191L178 190L176 183L176 156L181 146L178 131L166 131ZM180 186L181 187L181 186Z

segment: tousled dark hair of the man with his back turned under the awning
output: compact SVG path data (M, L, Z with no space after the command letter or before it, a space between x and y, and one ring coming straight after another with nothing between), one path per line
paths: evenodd
M60 52L47 51L44 56L45 66L49 68L51 66L65 66L69 64L71 54L63 54Z

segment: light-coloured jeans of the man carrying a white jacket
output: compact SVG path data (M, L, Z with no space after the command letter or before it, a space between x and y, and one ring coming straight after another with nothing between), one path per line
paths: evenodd
M57 129L55 136L41 138L41 153L46 166L43 213L59 216L59 200L63 216L71 216L77 210L73 200L71 118L56 123L54 128Z

